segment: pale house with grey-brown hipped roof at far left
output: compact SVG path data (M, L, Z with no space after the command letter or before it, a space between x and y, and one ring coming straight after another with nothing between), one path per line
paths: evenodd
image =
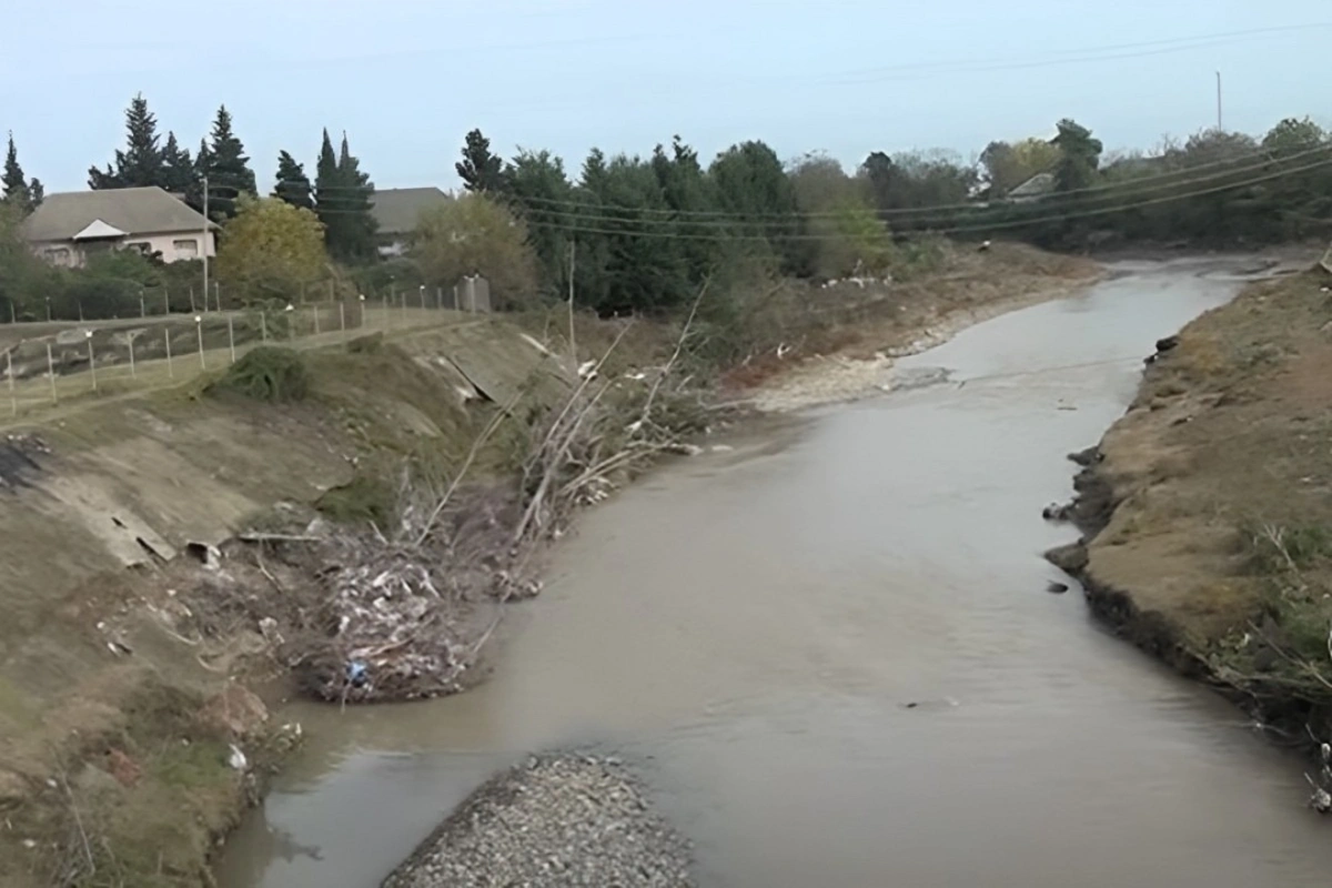
M164 262L214 256L216 229L156 186L47 194L23 224L24 238L37 256L69 268L111 249L157 254Z

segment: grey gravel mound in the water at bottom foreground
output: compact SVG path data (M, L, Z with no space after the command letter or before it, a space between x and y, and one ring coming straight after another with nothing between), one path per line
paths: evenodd
M384 888L693 888L689 843L615 759L542 755L473 792Z

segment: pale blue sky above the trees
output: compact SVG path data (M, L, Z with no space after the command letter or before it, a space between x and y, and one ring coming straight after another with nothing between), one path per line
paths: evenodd
M1332 125L1327 0L5 0L0 130L49 192L85 188L143 93L197 148L232 112L261 185L278 150L313 170L348 133L380 188L453 188L464 134L509 156L710 158L762 138L786 158L1051 136L1106 148L1216 124ZM1321 101L1320 101L1321 100Z

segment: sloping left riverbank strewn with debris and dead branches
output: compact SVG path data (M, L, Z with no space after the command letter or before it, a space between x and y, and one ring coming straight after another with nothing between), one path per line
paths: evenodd
M689 322L575 313L571 335L565 306L436 322L12 427L0 884L208 884L298 742L246 687L373 699L342 674L364 658L397 698L465 688L505 602L537 588L539 543L717 427L727 370L907 343L1064 268L954 253L854 292L705 292ZM378 600L385 578L406 607Z

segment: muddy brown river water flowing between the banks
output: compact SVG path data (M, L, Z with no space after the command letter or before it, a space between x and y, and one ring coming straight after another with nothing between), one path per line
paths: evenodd
M1124 264L902 362L948 382L825 409L589 511L493 679L296 707L309 747L225 888L369 888L494 768L645 763L705 885L1323 885L1301 763L1108 636L1040 553L1064 454L1241 264ZM928 373L920 374L928 377ZM908 706L908 704L916 706Z

